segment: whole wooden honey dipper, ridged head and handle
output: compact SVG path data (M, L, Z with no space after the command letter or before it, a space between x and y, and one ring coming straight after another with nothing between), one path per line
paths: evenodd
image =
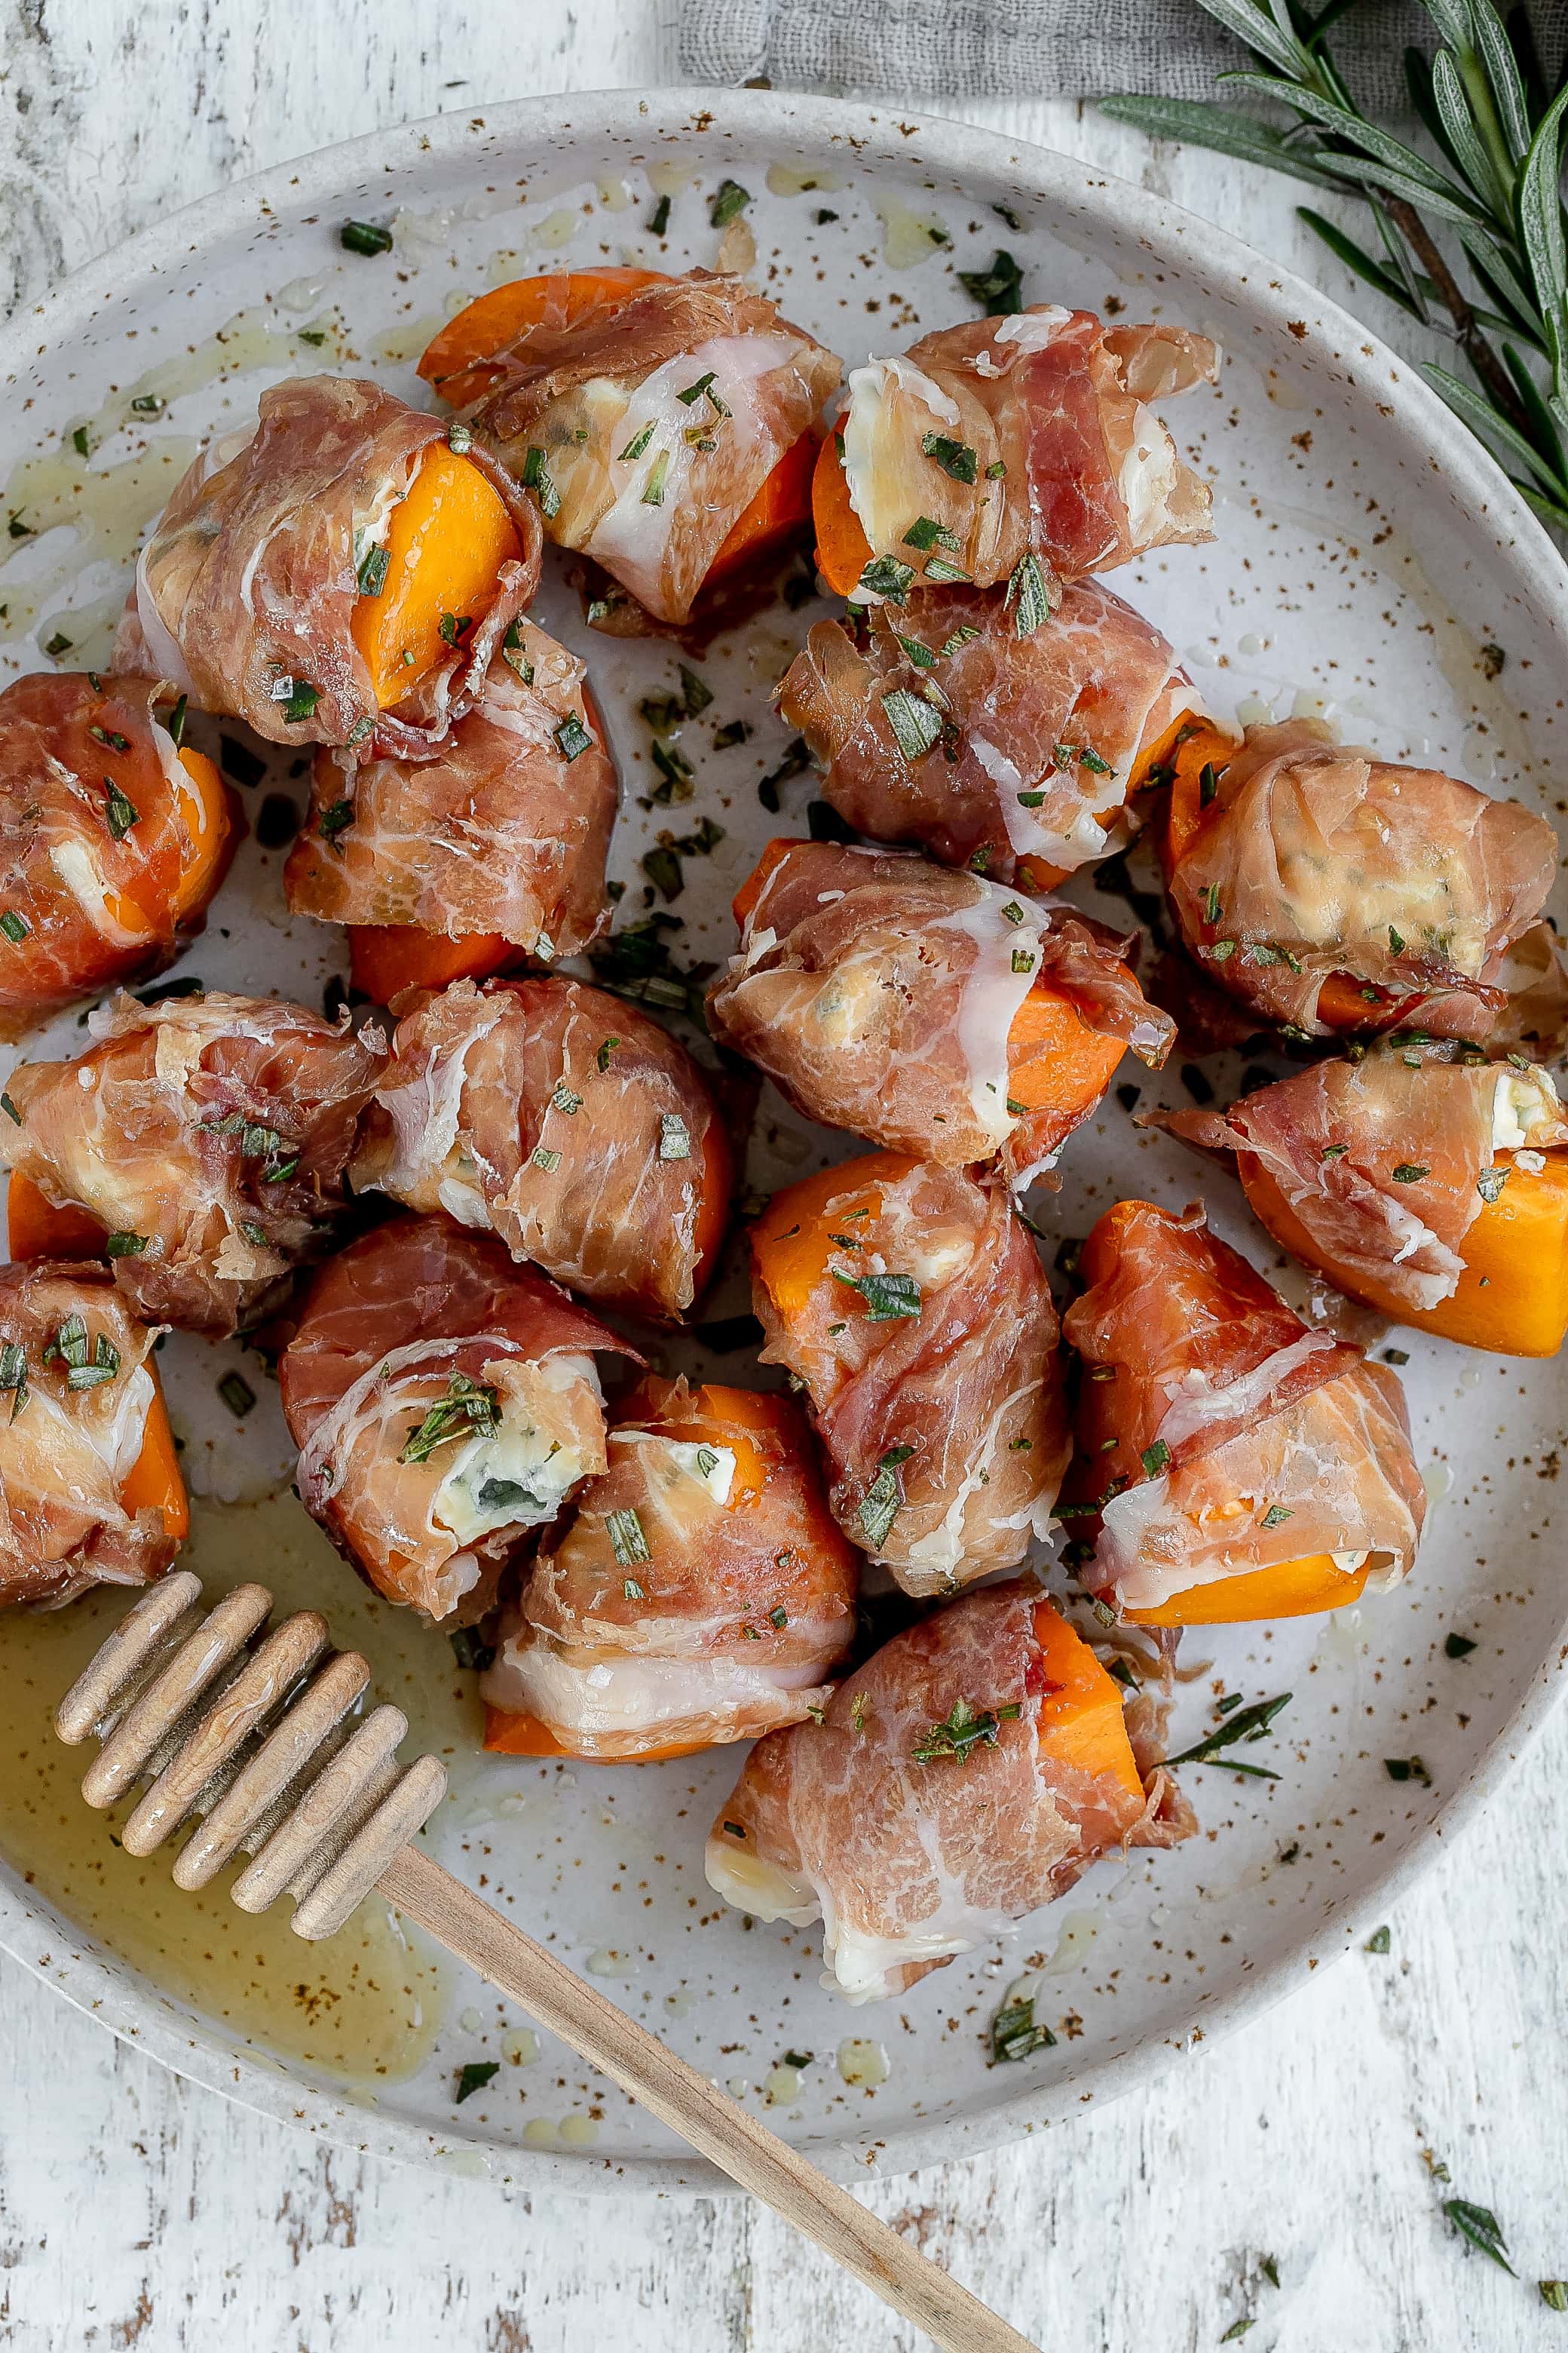
M917 2247L867 2214L785 2141L668 2052L646 2028L411 1845L447 1791L437 1758L397 1760L397 1708L355 1718L369 1692L357 1652L299 1609L270 1633L273 1595L237 1586L207 1612L179 1569L150 1586L71 1685L54 1729L96 1737L82 1798L96 1809L148 1784L120 1840L153 1854L188 1817L179 1887L205 1887L240 1852L230 1894L266 1911L292 1894L294 1932L331 1937L378 1887L388 1904L611 2075L651 2115L813 2238L945 2353L1034 2353Z

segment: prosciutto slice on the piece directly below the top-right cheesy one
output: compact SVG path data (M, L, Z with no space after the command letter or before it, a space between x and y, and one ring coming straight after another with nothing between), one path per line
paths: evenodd
M1128 793L1194 708L1171 645L1100 581L1023 638L1001 588L879 605L865 652L818 621L780 687L839 816L992 882L1121 847Z

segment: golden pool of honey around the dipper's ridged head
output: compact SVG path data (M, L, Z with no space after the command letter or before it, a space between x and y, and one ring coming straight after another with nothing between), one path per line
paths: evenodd
M197 1504L179 1565L209 1600L254 1577L280 1617L322 1609L336 1645L369 1659L374 1697L407 1713L404 1758L480 1746L475 1678L456 1668L447 1640L362 1586L287 1489L254 1504ZM433 1951L378 1897L336 1937L303 1944L287 1899L259 1918L228 1901L235 1871L183 1894L169 1878L169 1847L146 1861L127 1854L118 1819L134 1800L120 1814L82 1805L94 1751L66 1748L52 1718L132 1600L101 1586L66 1609L0 1614L0 1861L160 1993L244 2042L346 2085L414 2075L442 2021L442 1979Z

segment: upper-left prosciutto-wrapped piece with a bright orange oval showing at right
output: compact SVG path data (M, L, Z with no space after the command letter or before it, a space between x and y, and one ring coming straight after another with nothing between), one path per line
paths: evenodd
M538 558L534 501L470 433L294 376L176 485L120 654L273 744L418 758L477 699Z

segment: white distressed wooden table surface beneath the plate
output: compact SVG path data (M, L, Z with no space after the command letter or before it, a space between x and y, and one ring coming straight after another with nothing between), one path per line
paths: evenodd
M376 125L672 80L672 0L2 0L2 292L31 296L226 179ZM1396 334L1300 228L1286 181L1152 151L1063 101L966 113L1140 179ZM1535 2289L1568 2273L1566 1845L1559 1715L1392 1915L1387 1958L1352 1955L1143 2097L870 2200L1051 2353L1187 2353L1244 2318L1248 2353L1568 2346ZM1455 2193L1495 2209L1519 2280L1453 2235ZM0 1955L0 2344L214 2341L839 2353L912 2337L738 2200L508 2198L360 2162L165 2075Z

